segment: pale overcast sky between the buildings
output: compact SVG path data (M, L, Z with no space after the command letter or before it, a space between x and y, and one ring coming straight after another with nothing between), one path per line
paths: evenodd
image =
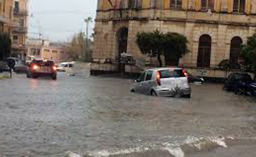
M53 41L70 40L75 33L85 32L84 19L95 18L97 0L30 0L28 37ZM94 23L90 24L92 33Z

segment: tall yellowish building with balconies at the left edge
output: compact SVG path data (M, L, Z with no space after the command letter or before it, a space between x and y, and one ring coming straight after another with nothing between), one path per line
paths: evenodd
M0 0L0 32L10 34L11 54L25 60L28 0Z

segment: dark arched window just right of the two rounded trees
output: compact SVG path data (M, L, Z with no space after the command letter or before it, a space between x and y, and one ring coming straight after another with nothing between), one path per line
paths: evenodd
M199 39L198 67L210 67L211 38L203 35Z

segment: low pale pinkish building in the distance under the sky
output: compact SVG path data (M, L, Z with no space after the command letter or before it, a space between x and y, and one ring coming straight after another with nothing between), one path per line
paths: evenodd
M43 60L54 60L60 63L66 60L65 47L60 44L50 43L49 40L28 40L28 56Z

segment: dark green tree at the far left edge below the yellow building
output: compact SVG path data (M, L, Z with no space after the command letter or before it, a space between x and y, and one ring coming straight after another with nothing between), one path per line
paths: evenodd
M0 60L5 60L11 54L11 38L8 33L0 33Z

